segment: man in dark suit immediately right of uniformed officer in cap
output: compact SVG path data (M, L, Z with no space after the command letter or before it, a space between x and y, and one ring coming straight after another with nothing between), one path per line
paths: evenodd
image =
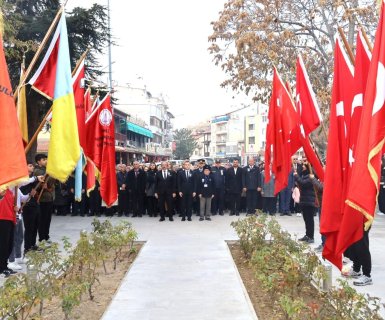
M233 166L226 171L226 191L229 196L230 216L239 216L242 193L242 168L238 160L233 161Z

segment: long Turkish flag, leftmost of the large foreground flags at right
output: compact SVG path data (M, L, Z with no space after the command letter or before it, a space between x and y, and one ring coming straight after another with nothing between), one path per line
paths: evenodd
M330 109L330 128L326 173L322 200L321 233L326 236L323 256L341 269L342 256L336 255L338 231L346 196L348 162L348 128L353 100L353 70L336 39L334 79ZM362 190L361 190L362 191Z

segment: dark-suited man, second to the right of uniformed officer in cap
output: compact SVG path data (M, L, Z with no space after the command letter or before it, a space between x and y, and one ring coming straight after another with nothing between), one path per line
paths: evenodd
M261 173L253 158L243 168L243 191L246 192L247 215L255 214L257 209L258 191L261 191Z

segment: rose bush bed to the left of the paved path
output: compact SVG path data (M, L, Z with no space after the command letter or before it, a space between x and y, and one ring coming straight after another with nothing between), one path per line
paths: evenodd
M121 265L128 269L138 248L134 245L137 234L131 224L121 222L113 226L109 220L94 220L92 225L93 231L81 232L75 246L63 239L64 254L57 243L28 254L28 273L8 278L0 288L1 319L46 319L48 315L52 319L73 319L80 304L95 301L95 290L100 289L101 283L110 287L105 277L121 269L118 268ZM120 273L122 277L125 271ZM116 277L114 279L116 281ZM108 300L114 291L112 288ZM102 306L99 317L94 315L94 318L100 318L107 303ZM94 307L99 304L97 301ZM87 317L77 314L76 318Z

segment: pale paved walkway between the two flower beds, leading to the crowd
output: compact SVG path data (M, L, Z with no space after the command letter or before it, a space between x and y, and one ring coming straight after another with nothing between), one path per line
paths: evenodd
M103 319L256 319L225 240L230 217L134 220L147 243Z

